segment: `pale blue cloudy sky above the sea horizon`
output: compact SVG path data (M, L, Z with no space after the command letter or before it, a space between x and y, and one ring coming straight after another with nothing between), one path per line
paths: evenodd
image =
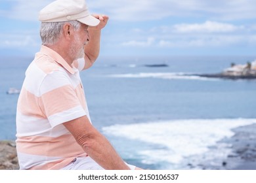
M33 56L50 0L0 0L0 55ZM256 56L255 0L87 0L110 16L101 56Z

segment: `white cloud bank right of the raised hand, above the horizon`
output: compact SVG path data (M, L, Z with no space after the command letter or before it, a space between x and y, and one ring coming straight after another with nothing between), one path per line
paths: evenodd
M131 29L125 33L127 35L132 34L133 41L125 41L122 45L135 48L145 46L152 48L221 48L256 44L253 25L245 27L211 21L202 24L165 25L151 29L140 29L136 32ZM126 37L126 39L131 39L131 37Z

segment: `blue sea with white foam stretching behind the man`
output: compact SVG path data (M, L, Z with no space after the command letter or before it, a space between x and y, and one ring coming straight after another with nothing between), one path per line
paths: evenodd
M221 166L232 129L256 123L256 80L203 78L256 56L104 57L81 72L93 125L144 169ZM1 57L0 140L15 140L18 94L30 57ZM165 66L165 67L163 67Z

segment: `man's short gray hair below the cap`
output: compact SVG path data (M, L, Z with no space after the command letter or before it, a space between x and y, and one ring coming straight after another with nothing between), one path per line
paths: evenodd
M40 36L43 45L53 45L58 41L60 35L62 35L62 28L64 24L71 24L75 31L77 31L81 23L77 20L68 22L42 22L40 29Z

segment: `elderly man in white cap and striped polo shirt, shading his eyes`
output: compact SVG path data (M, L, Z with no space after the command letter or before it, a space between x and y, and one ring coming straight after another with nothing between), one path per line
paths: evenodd
M108 16L84 0L58 0L39 12L41 50L18 99L20 169L139 169L121 159L91 124L79 71L93 65Z

